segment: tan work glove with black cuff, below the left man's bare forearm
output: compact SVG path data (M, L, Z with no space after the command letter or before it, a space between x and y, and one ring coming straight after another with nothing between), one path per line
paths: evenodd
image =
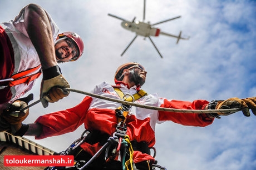
M59 69L57 66L54 67ZM42 99L43 107L48 106L48 102L54 103L57 102L59 99L68 96L70 93L69 91L65 91L63 88L70 88L70 85L66 81L66 79L60 74L60 71L57 73L53 73L55 77L49 78L50 71L53 71L52 68L43 71L43 80L41 82L41 89L40 89L40 98ZM57 76L56 76L57 75ZM53 88L55 87L55 88Z

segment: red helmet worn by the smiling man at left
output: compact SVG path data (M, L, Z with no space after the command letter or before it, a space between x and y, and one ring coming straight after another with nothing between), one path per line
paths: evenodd
M63 32L61 34L58 34L57 39L60 39L63 37L71 38L75 42L77 49L78 49L78 54L76 57L72 58L71 61L76 61L83 54L83 41L82 41L81 37L75 32Z

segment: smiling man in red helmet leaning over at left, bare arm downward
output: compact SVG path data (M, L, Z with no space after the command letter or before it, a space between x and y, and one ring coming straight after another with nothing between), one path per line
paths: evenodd
M83 42L74 32L60 33L45 9L28 4L14 20L0 23L0 49L1 114L31 90L41 73L44 107L68 96L62 88L70 85L57 64L76 61L83 53ZM8 130L8 124L0 120L0 129Z

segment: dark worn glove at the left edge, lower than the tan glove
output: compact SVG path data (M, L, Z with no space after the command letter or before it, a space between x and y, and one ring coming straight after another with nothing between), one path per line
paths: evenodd
M18 131L24 119L27 118L29 109L20 111L22 108L28 106L28 102L33 99L33 94L29 94L27 97L17 99L14 101L9 108L5 109L1 114L1 121L5 121L6 124L11 124L11 131L15 133Z

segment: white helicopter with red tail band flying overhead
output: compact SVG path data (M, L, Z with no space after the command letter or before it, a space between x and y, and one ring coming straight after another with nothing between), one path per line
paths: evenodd
M144 10L143 10L143 21L135 21L136 17L134 17L134 19L132 19L132 21L127 21L124 18L115 16L114 14L108 14L111 17L117 18L117 19L121 19L121 26L131 32L135 32L136 36L132 39L132 41L128 44L128 46L125 48L124 52L121 53L121 56L127 51L127 49L131 46L131 44L135 41L135 39L137 38L137 36L143 36L143 37L148 37L149 40L151 41L151 43L153 44L153 46L155 47L157 53L159 53L160 57L163 58L163 56L161 55L161 53L159 52L159 49L156 47L155 43L152 41L152 38L150 38L150 36L154 36L154 37L158 37L160 34L164 35L164 36L169 36L169 37L174 37L177 38L176 44L179 43L180 39L185 39L188 40L190 37L181 37L181 31L179 33L178 36L175 36L173 34L169 34L169 33L165 33L160 31L159 28L153 27L156 26L157 24L161 24L161 23L165 23L165 22L169 22L172 21L174 19L180 18L181 16L177 16L174 18L170 18L170 19L166 19L164 21L160 21L154 24L150 24L150 22L146 23L145 21L145 7L146 7L146 0L144 0Z

